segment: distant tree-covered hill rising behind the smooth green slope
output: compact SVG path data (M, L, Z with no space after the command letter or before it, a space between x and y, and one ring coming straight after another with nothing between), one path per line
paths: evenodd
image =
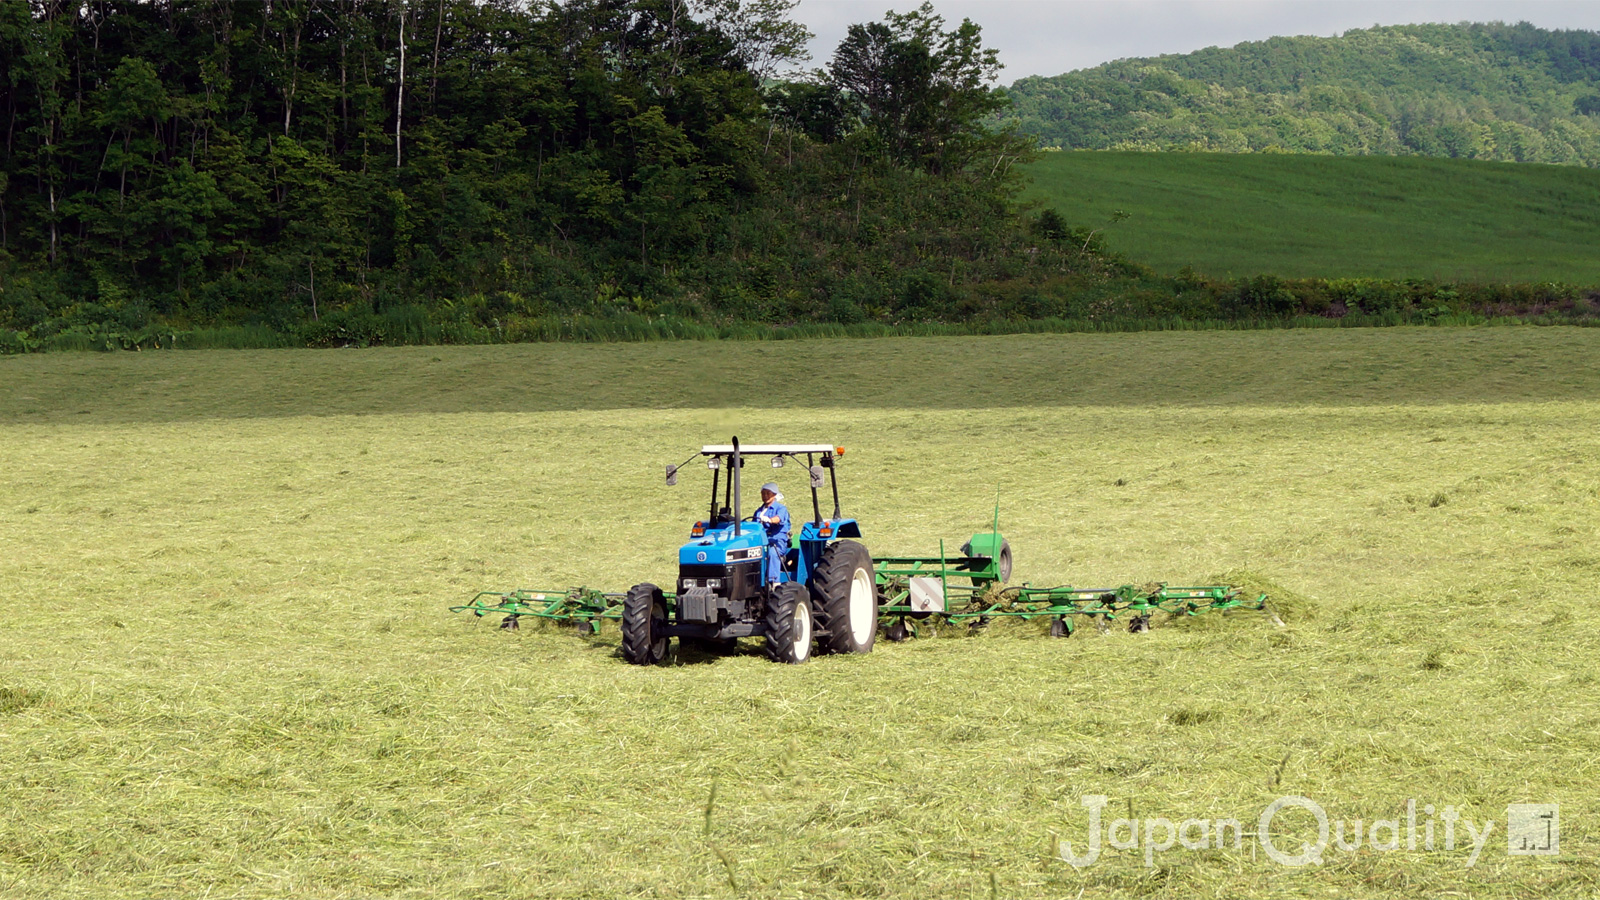
M1011 86L1067 149L1290 151L1600 165L1600 32L1392 26L1118 59Z

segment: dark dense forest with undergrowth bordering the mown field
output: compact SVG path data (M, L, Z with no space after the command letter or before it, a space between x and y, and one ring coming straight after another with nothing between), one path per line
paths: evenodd
M1589 309L1157 275L1019 200L979 24L795 3L0 3L0 352Z

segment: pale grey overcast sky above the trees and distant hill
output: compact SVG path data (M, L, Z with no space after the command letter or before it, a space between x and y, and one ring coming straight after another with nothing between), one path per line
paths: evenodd
M816 40L808 67L826 66L854 22L922 0L800 0L795 18ZM1600 0L934 0L947 24L963 18L1000 51L1000 83L1059 75L1128 56L1189 53L1272 35L1330 37L1374 24L1518 22L1600 30Z

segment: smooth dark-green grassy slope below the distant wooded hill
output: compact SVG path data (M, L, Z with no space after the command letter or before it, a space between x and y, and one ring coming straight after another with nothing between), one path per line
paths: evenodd
M1600 283L1600 171L1419 157L1056 152L1027 197L1162 272Z

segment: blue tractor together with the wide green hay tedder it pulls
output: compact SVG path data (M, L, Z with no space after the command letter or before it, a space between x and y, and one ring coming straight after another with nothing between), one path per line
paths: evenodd
M1259 610L1274 617L1266 594L1250 596L1230 585L1010 585L1013 552L998 528L998 504L990 528L971 535L960 552L946 552L941 541L938 556L872 557L856 540L862 536L856 519L840 512L837 471L843 453L829 444L741 447L738 439L702 447L696 456L704 456L712 472L710 512L694 522L690 541L678 548L674 591L651 583L622 593L482 591L451 610L502 615L501 628L518 628L522 618L571 623L584 634L597 634L606 620L618 621L622 657L638 665L662 660L672 637L707 649L762 637L773 660L803 663L813 645L819 652L866 653L880 631L890 641L906 641L946 623L981 628L1003 618L1048 618L1051 636L1069 637L1078 620L1101 631L1123 620L1131 633L1149 631L1157 612L1190 617ZM741 516L741 471L752 456L770 456L773 468L792 460L810 474L811 517L794 533L787 552L771 562L763 522ZM669 485L677 484L682 468L667 466ZM824 484L832 488L830 516L822 514Z

